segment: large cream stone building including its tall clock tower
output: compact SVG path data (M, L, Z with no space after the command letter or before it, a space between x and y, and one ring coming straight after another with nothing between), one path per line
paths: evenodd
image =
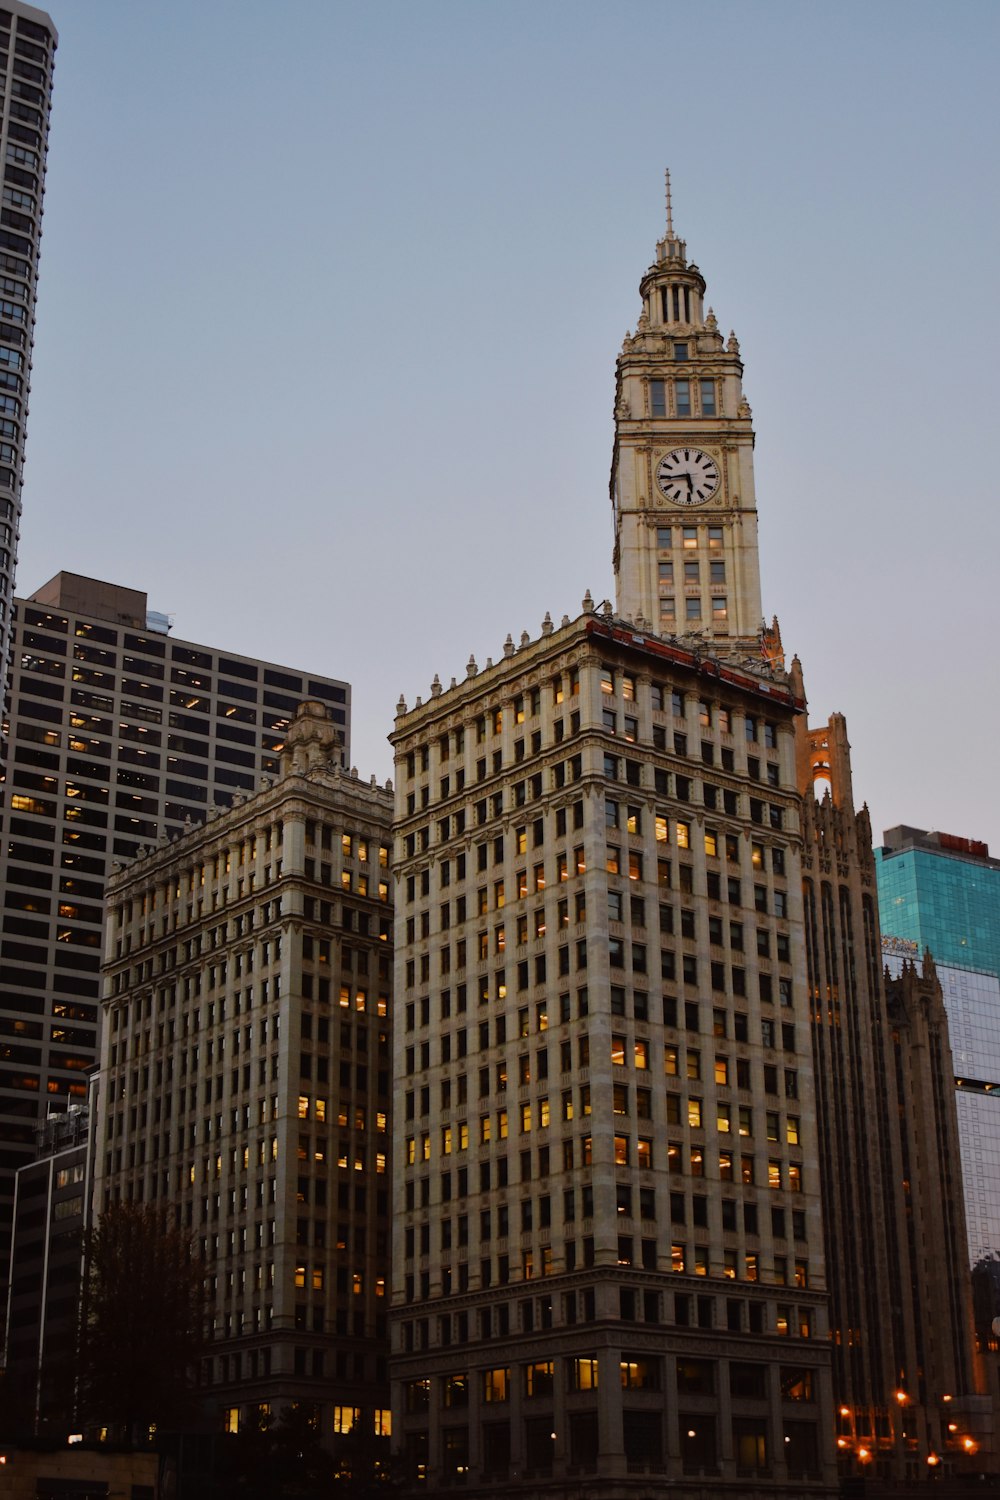
M394 1412L430 1492L835 1478L802 705L702 292L669 224L619 360L618 612L546 616L391 735Z

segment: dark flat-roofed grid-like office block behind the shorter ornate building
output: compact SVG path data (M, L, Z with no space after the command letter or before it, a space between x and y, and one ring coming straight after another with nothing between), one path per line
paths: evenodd
M166 627L141 591L72 573L18 600L0 807L0 1280L13 1173L39 1122L84 1100L96 1062L111 862L274 774L303 698L328 705L349 754L346 682Z

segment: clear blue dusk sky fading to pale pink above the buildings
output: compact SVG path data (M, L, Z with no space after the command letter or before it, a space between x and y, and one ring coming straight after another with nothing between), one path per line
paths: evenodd
M346 678L391 776L400 693L613 597L669 165L811 716L847 716L876 842L1000 855L996 0L51 15L19 594L88 573Z

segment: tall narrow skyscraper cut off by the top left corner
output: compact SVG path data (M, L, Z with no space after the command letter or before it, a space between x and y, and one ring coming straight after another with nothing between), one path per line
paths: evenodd
M13 630L42 196L58 34L45 10L0 6L0 681Z

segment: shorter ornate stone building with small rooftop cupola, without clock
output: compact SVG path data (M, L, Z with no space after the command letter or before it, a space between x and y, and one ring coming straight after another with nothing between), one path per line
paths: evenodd
M205 1408L388 1436L391 790L306 702L256 796L108 882L94 1212L174 1206Z

